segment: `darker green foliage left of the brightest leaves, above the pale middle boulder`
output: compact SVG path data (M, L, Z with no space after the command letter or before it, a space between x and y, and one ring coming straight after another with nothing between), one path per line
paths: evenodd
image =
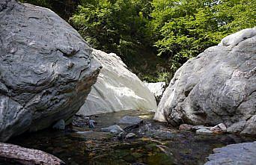
M147 43L146 0L82 0L71 24L94 48L127 57Z

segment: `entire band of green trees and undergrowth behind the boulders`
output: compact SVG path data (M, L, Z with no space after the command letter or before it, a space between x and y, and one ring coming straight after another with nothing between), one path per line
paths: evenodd
M58 0L27 1L60 13L54 3ZM175 72L190 57L216 45L226 35L253 28L256 19L253 0L65 0L64 3L77 10L75 13L69 10L72 15L69 19L67 14L62 16L94 48L117 53L137 74L144 72L144 68L139 69L143 63L151 66L141 75L147 81L156 81L153 77L168 81L166 77L171 75L163 70ZM161 59L152 59L151 55L159 55ZM151 62L144 60L147 58ZM162 59L168 61L168 66L161 64ZM160 69L155 69L157 63L162 65ZM154 76L150 77L150 72Z

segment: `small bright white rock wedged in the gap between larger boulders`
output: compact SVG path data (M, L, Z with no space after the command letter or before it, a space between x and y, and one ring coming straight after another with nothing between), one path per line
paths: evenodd
M156 97L156 102L160 102L162 94L165 91L165 82L157 82L157 83L144 83L147 88L153 93L153 96Z

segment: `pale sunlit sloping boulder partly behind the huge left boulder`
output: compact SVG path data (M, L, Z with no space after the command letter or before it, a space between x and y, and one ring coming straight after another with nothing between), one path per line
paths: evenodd
M93 51L103 66L97 83L78 114L92 115L119 110L156 110L156 99L140 79L114 53Z

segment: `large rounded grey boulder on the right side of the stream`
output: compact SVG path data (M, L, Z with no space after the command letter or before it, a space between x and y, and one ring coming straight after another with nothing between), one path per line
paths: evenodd
M239 133L256 134L255 114L256 28L250 28L225 37L180 67L154 119L227 127L246 121Z

